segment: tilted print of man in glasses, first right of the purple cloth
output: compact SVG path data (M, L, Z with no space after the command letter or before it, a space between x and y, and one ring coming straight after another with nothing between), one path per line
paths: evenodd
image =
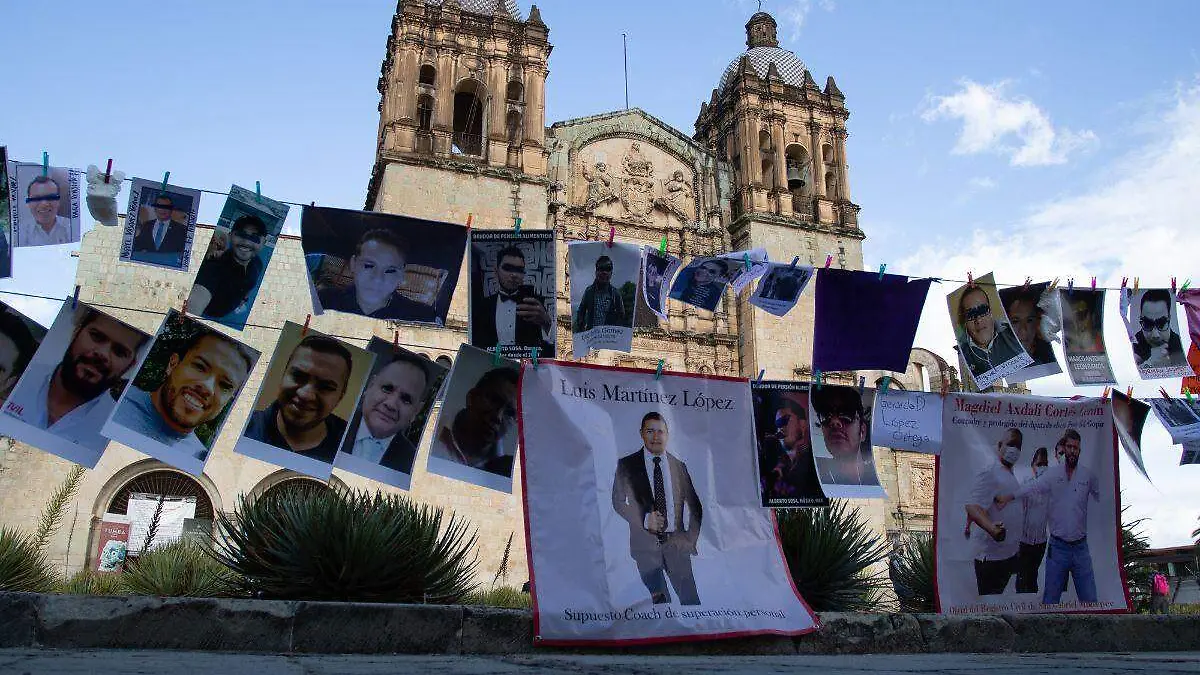
M1000 298L992 298L983 285L968 286L959 297L954 315L959 351L966 360L971 375L980 389L991 386L991 380L980 382L983 376L1015 357L1026 356L1013 327L1002 318Z

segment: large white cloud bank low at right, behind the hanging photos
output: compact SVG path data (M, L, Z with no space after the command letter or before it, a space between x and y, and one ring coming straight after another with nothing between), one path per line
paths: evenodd
M1100 285L1120 286L1122 276L1140 276L1142 287L1166 286L1170 276L1182 282L1195 277L1200 229L1200 79L1182 86L1165 109L1159 109L1128 156L1115 156L1090 189L1034 207L1014 222L980 222L959 237L929 244L907 259L896 261L901 273L946 279L978 277L995 271L1001 283L1069 276L1078 285L1092 275ZM922 316L917 344L942 356L953 356L953 335L944 295L955 283L935 285ZM1115 294L1114 294L1115 295ZM1117 300L1110 295L1105 338L1117 381L1134 384L1135 395L1157 395L1160 386L1178 381L1141 381L1133 365ZM1182 319L1181 319L1182 321ZM953 362L952 362L953 364ZM1073 387L1064 375L1034 380L1039 395L1099 395L1100 388ZM1154 485L1142 479L1127 460L1122 462L1122 489L1133 516L1148 516L1146 532L1156 546L1190 540L1200 522L1195 484L1200 467L1178 467L1180 447L1172 446L1157 422L1146 425L1146 466Z

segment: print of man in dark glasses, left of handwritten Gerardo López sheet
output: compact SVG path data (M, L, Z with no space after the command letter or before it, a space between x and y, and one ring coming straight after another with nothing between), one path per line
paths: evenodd
M829 497L886 497L871 452L875 389L822 384L809 395L817 480Z

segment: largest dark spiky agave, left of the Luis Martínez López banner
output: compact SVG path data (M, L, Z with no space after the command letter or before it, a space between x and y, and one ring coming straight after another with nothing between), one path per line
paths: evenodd
M455 603L474 590L469 524L398 495L244 497L217 526L212 555L256 597Z

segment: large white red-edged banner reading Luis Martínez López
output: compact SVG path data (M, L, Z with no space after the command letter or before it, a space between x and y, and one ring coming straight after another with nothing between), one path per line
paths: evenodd
M521 377L534 639L816 628L762 508L745 380L528 362Z

